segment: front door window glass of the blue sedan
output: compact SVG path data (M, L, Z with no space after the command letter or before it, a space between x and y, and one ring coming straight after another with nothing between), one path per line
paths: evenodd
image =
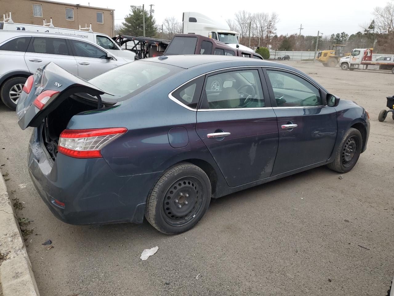
M321 106L319 89L301 77L282 71L267 70L277 107Z

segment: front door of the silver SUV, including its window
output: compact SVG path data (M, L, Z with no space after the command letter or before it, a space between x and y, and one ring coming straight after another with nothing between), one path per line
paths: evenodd
M89 79L122 63L106 59L107 53L100 47L82 40L69 39L78 65L78 76Z

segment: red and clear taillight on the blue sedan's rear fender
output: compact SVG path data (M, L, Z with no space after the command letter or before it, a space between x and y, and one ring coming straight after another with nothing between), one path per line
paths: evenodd
M102 157L100 150L126 131L125 127L65 129L59 137L58 152L75 158Z

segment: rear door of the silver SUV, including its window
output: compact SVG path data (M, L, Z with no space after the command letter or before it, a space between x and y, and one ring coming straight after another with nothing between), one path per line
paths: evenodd
M78 75L78 67L66 39L58 37L32 37L24 55L30 73L49 62Z

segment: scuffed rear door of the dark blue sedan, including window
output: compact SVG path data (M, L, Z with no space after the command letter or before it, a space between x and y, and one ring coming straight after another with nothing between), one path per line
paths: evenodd
M261 69L245 68L206 78L196 130L230 187L272 172L278 127L262 76Z

